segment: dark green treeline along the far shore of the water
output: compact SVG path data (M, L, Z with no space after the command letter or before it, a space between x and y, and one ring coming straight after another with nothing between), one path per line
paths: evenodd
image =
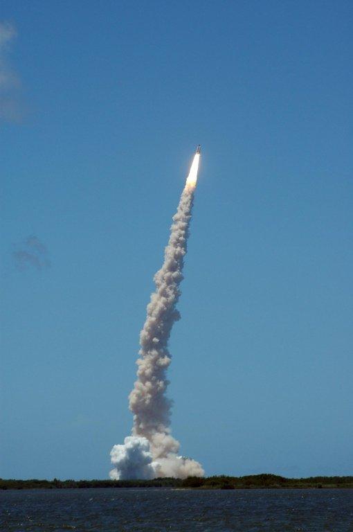
M353 488L353 477L309 477L287 479L279 475L247 475L246 477L188 477L188 479L153 480L3 480L1 490L66 489L66 488L198 488L234 490L254 488Z

